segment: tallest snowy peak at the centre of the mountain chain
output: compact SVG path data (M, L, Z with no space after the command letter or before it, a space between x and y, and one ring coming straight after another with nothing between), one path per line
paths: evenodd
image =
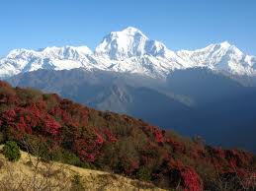
M120 32L111 32L96 47L95 54L113 60L124 60L129 57L140 57L145 54L165 56L169 51L166 46L149 39L143 32L128 27Z

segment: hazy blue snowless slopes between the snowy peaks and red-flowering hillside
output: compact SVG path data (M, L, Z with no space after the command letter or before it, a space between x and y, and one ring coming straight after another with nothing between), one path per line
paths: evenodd
M256 152L256 88L211 70L177 70L166 81L106 71L39 70L8 81L198 135L214 146Z

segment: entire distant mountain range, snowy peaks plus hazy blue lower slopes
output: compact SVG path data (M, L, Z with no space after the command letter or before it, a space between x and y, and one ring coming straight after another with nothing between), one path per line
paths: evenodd
M256 152L255 63L226 41L175 52L129 27L106 35L95 51L13 50L0 60L0 76L215 146Z

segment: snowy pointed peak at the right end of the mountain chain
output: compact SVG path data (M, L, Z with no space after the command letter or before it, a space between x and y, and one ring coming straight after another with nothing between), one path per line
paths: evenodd
M194 51L181 50L177 54L194 67L208 67L236 75L256 74L253 70L255 58L245 55L227 41Z

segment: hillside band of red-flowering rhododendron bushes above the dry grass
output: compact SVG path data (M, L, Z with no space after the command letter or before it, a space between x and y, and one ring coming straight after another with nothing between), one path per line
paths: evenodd
M23 149L25 138L54 148L51 159L122 173L163 188L256 186L256 159L250 153L206 146L127 115L1 81L0 131L5 141L15 140Z

